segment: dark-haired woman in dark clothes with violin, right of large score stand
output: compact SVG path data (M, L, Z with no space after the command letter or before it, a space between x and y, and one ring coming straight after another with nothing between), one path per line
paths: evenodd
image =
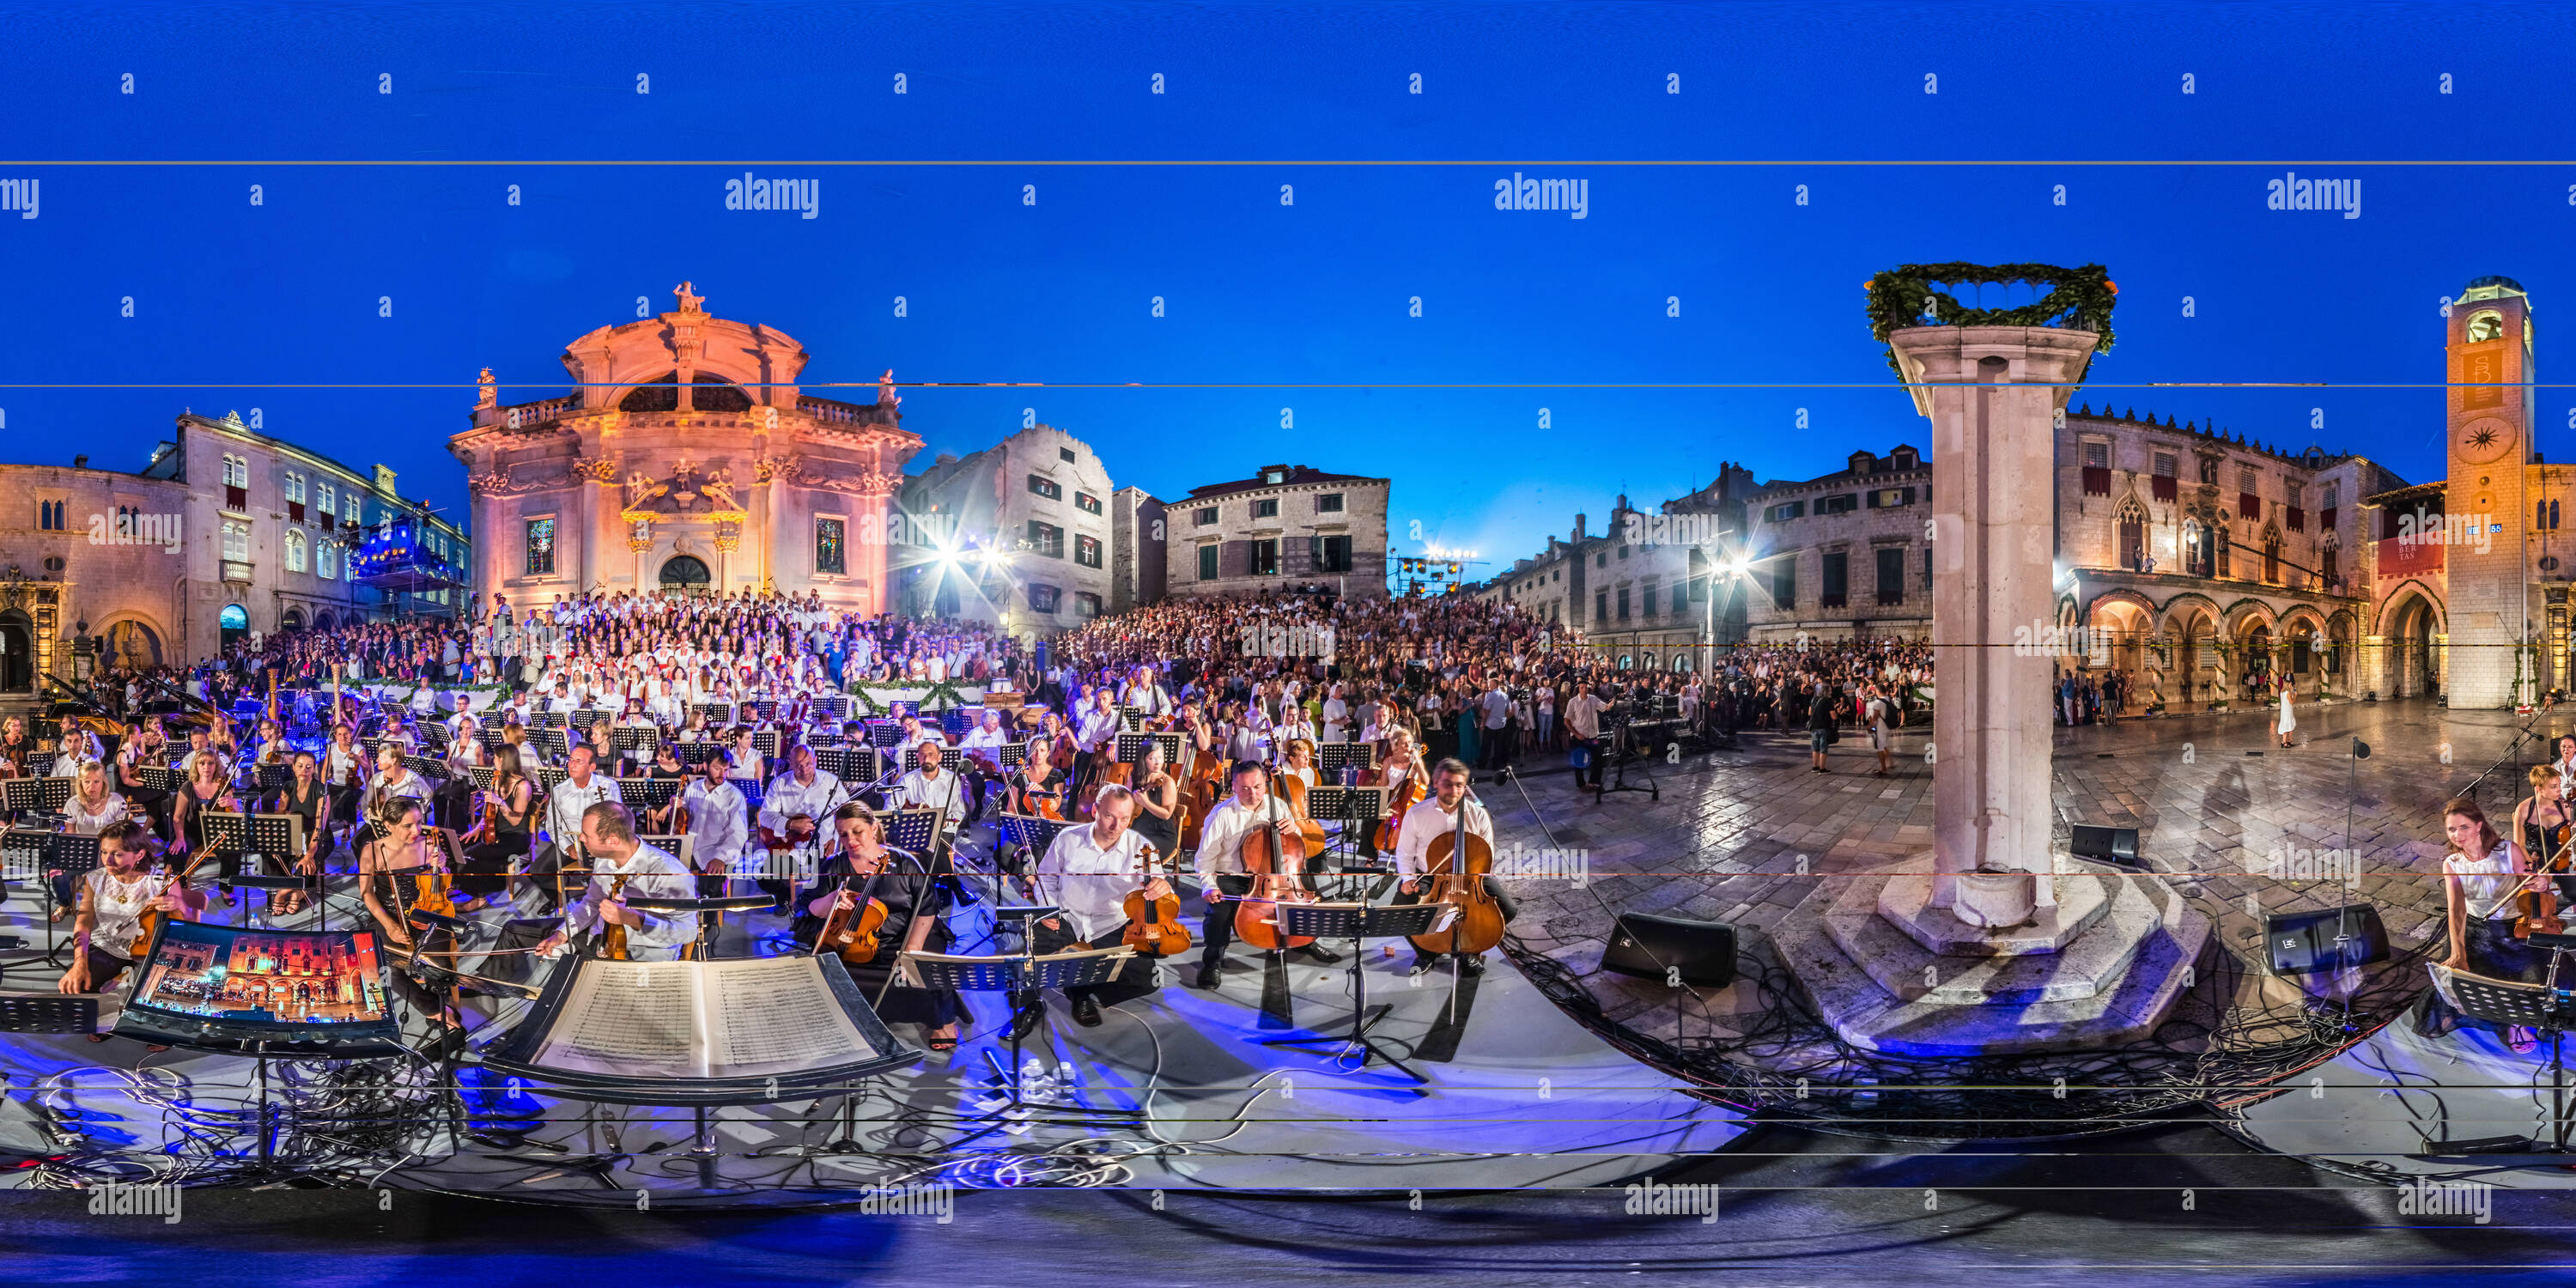
M835 850L822 860L822 884L814 899L806 899L804 914L796 917L796 943L814 948L814 938L822 935L832 912L855 907L868 878L884 873L871 891L871 899L886 904L886 922L876 927L876 958L850 966L850 981L871 999L886 989L884 999L876 1002L878 1020L930 1025L930 1048L953 1051L966 999L956 989L889 987L886 979L899 953L948 951L948 925L940 922L940 909L948 894L945 881L956 878L956 868L948 866L945 855L935 860L935 868L927 868L920 855L889 848L884 819L860 801L832 811L832 840Z

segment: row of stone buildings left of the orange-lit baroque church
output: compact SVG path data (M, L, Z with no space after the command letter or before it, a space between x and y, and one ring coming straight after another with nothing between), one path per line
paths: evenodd
M402 598L361 585L361 546L402 520L461 572L466 533L355 469L268 435L258 410L185 412L139 471L0 464L0 706L36 675L72 677L88 636L113 662L188 665L250 631L448 613L464 587Z

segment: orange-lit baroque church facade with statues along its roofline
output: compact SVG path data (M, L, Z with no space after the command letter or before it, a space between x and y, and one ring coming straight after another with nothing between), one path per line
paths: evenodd
M474 587L541 605L582 590L817 592L896 608L894 495L922 440L889 371L873 404L799 389L775 327L677 309L600 327L562 355L574 389L502 404L489 371L448 440L474 492Z

